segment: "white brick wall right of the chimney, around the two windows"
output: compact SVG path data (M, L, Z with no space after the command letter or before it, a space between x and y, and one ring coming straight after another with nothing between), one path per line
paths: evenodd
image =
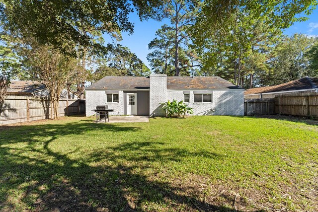
M167 91L167 100L184 100L184 91ZM212 103L194 102L193 91L190 91L190 102L187 104L193 108L193 115L244 115L244 91L243 90L214 90L212 91ZM166 101L167 101L166 100Z

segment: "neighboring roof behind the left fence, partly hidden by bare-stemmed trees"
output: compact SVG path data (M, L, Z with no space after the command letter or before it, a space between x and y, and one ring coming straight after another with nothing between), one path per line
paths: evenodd
M45 89L45 85L37 81L11 81L7 93L36 93L43 89Z

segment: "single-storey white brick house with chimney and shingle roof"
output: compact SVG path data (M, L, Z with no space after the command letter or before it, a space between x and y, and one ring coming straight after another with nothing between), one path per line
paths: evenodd
M160 103L183 100L193 115L244 115L244 89L217 76L105 76L86 88L86 116L97 105L110 115L164 116Z

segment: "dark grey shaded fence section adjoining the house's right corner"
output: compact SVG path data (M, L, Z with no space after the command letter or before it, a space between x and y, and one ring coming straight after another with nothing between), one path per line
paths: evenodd
M273 115L275 114L275 99L245 99L244 115Z

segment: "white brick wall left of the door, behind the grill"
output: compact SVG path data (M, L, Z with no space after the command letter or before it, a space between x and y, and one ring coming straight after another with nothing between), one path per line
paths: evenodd
M86 90L86 116L95 115L92 110L96 109L97 105L108 105L109 109L114 109L109 115L124 115L124 92L118 91L119 102L106 104L105 90Z

